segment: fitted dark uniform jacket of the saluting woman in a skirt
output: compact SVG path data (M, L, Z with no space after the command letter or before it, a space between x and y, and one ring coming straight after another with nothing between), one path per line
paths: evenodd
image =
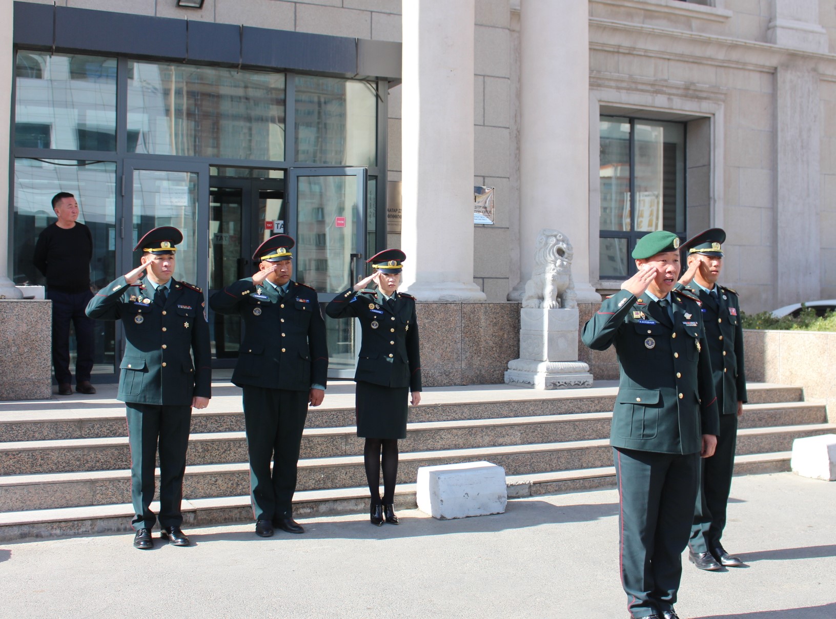
M415 297L395 292L395 310L380 291L341 292L325 307L332 318L359 318L363 327L355 381L421 391L421 353Z

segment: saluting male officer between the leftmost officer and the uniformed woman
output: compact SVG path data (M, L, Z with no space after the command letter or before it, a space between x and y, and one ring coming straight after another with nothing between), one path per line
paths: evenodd
M322 403L328 373L317 293L291 279L294 245L288 235L271 236L252 256L258 272L209 299L215 312L244 323L232 383L243 388L252 511L262 537L273 535L273 526L304 532L293 520L299 445L308 403Z

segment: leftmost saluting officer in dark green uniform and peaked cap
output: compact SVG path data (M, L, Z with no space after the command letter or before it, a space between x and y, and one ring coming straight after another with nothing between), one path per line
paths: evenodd
M203 292L173 277L182 240L181 231L171 226L148 232L134 247L142 249L140 266L102 288L87 306L89 317L121 320L125 329L116 397L125 402L128 418L134 545L141 550L154 547L150 531L156 517L150 504L158 442L161 537L189 545L180 528L180 505L191 407L206 408L211 397Z

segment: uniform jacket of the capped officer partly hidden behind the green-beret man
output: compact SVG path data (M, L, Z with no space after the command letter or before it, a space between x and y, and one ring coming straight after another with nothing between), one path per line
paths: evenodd
M720 414L737 414L737 402L747 402L746 371L743 369L743 323L740 299L731 288L716 286L717 300L700 287L683 287L702 302L702 322L706 327L711 373Z

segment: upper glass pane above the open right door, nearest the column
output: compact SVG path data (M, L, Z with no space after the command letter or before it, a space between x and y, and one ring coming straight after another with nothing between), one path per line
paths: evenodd
M377 90L359 79L296 76L296 160L377 165Z

